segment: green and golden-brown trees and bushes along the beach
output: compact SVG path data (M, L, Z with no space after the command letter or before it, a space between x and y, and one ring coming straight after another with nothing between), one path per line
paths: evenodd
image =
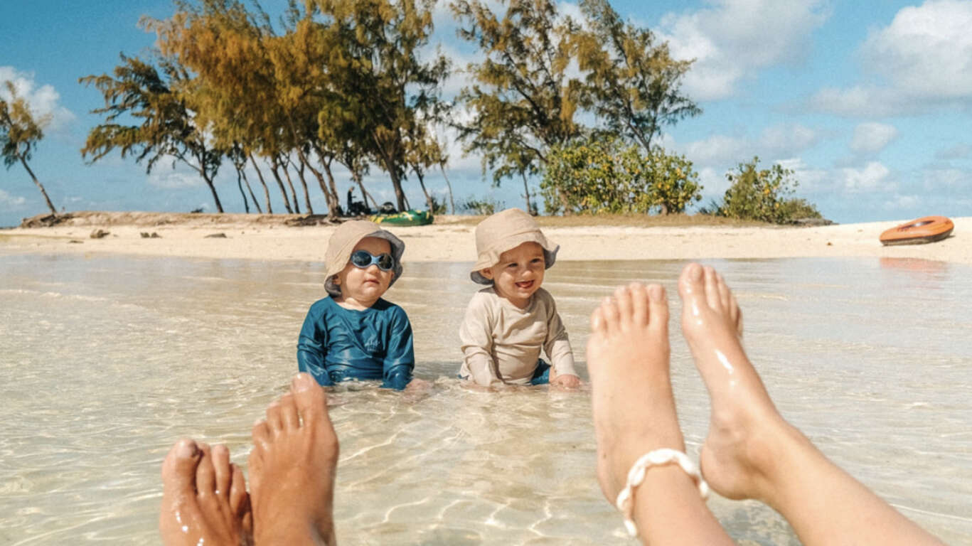
M494 184L522 181L535 213L528 181L537 176L549 213L669 214L701 198L691 161L653 142L666 125L702 112L680 92L692 61L673 59L667 43L607 0L581 0L580 20L552 0L511 0L504 13L492 5L449 4L459 37L481 59L455 67L430 45L434 0L291 0L273 15L257 3L175 0L172 17L140 21L157 36L146 58L122 52L110 74L81 78L105 100L81 153L95 162L118 150L150 172L161 159L183 162L219 212L214 179L227 163L247 212L272 213L275 187L288 213L313 214L308 183L316 182L333 218L379 209L364 185L375 167L388 175L398 210L409 208L405 181L418 182L430 210L440 207L425 178L435 168L446 175L452 129ZM454 75L467 85L447 100L442 85ZM45 120L31 119L8 86L0 144L8 167L20 162L29 172ZM342 210L335 164L361 189L360 203L349 194L355 210ZM730 181L751 182L740 169Z

